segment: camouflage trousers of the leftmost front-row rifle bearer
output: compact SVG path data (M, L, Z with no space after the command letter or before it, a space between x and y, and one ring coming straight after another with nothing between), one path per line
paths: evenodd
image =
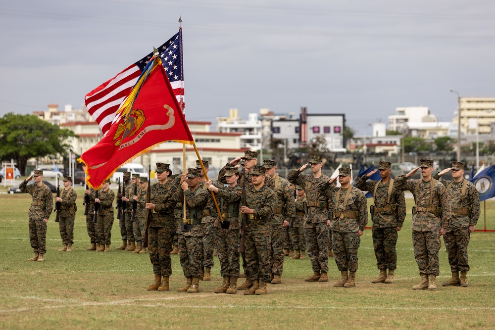
M174 226L148 228L149 261L153 266L153 274L161 276L172 275L170 250L172 249L172 236L174 236L174 233Z

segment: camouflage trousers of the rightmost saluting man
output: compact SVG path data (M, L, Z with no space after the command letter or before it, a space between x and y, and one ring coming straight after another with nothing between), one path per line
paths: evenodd
M469 244L470 237L469 227L455 228L445 233L445 248L448 253L448 263L452 272L469 271L467 245Z

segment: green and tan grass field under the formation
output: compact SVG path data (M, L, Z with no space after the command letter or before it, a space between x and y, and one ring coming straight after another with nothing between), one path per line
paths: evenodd
M76 191L82 196L81 188ZM442 243L438 290L412 290L420 277L410 230L413 200L406 201L396 283L370 282L378 270L371 230L365 230L355 288L332 286L340 277L333 260L329 283L306 283L309 259L286 257L282 284L269 284L263 296L244 296L213 293L222 281L216 258L211 282L200 282L197 294L178 293L185 280L177 255L171 290L147 291L153 280L148 254L115 250L121 243L118 221L110 253L85 250L90 244L81 197L73 251L57 251L61 239L52 215L46 261L28 262L30 196L1 194L0 329L494 329L495 233L471 235L469 287L440 285L450 277ZM487 202L487 227L495 229L494 201ZM483 229L483 213L477 229Z

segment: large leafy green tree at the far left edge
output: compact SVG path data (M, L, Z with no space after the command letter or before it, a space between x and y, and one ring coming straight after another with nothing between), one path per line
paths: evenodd
M66 155L74 132L60 129L33 115L9 112L0 118L0 159L13 158L25 175L29 158Z

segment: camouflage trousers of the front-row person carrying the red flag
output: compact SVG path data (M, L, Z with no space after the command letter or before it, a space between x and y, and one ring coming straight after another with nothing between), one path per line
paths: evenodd
M239 242L238 229L216 228L215 247L220 260L220 275L222 277L239 277L239 252L237 243Z

